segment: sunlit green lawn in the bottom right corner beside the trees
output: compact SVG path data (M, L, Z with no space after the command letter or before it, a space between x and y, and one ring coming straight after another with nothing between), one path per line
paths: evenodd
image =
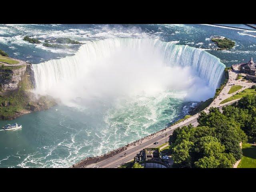
M242 151L243 157L237 168L256 168L256 146L243 143Z

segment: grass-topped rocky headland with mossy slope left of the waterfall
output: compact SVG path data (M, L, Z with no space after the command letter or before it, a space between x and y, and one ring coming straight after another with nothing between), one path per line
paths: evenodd
M56 105L52 97L30 92L34 88L31 64L0 53L0 118L10 120Z

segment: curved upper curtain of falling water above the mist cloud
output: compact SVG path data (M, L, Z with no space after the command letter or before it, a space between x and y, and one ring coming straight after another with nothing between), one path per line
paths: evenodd
M72 81L77 76L86 76L88 68L93 67L93 62L110 57L116 50L130 48L139 51L149 46L154 50L152 54L160 53L166 65L191 66L212 89L215 90L220 85L225 65L219 58L202 49L162 42L159 39L113 38L88 42L74 56L33 64L35 89L42 93L62 80Z

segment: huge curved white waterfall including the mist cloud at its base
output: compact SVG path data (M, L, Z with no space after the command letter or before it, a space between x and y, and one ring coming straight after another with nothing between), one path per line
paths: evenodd
M74 56L32 66L35 91L70 106L82 100L91 103L92 98L163 90L186 90L186 100L206 100L220 85L224 68L202 49L132 38L89 42Z

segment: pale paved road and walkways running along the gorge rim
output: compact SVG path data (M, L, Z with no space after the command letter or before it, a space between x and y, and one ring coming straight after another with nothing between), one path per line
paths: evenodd
M236 84L243 84L243 86L246 86L245 88L248 88L248 87L252 86L252 84L254 84L254 83L246 83L246 82L240 82L240 81L238 82L235 80L236 76L237 76L236 71L229 71L228 83L226 84L226 86L224 86L224 88L220 92L219 96L217 98L215 98L213 100L213 102L210 104L210 106L208 106L204 110L206 113L209 112L210 107L218 107L221 109L223 106L230 105L233 102L237 101L237 100L233 100L231 102L220 104L220 102L222 100L232 96L232 94L228 94L228 91L232 87L232 84L234 84L235 82L236 82ZM242 90L244 90L245 88L243 87ZM239 91L241 91L241 90L239 90ZM90 164L87 166L87 168L116 168L116 167L120 166L123 162L124 163L130 162L131 160L134 159L136 154L140 152L140 150L143 150L144 148L148 148L148 147L157 147L157 146L160 146L161 144L165 143L166 141L168 141L168 137L172 134L174 129L181 127L181 126L186 126L189 124L192 124L193 126L198 126L198 122L197 122L198 116L199 116L199 113L193 115L192 117L190 117L178 124L175 124L173 126L166 128L166 130L162 130L161 132L158 132L154 136L150 136L149 138L144 138L144 140L142 140L141 144L136 144L136 146L128 146L127 150L123 150L123 151L119 152L119 154L111 156L102 161L99 160L98 163ZM156 145L153 144L156 141L158 142L158 144L156 144ZM125 156L124 156L124 153L126 153ZM79 162L78 164L75 165L75 167L78 168L81 165L84 165L84 163Z

